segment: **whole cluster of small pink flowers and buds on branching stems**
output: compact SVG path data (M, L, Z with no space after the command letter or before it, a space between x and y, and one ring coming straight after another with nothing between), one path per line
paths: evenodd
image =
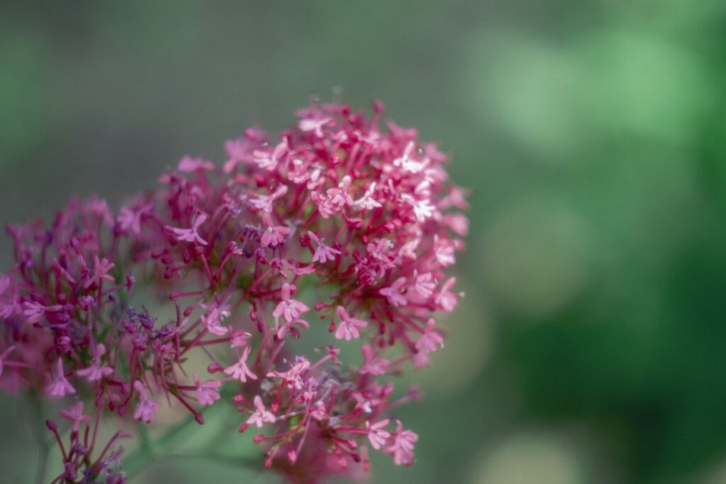
M390 379L442 345L432 315L460 298L446 271L468 221L446 156L382 113L314 102L277 140L247 129L227 142L222 166L183 158L118 213L91 198L48 227L9 227L0 386L75 400L61 412L68 448L47 422L54 482L123 482L126 435L100 448L104 416L151 424L179 406L203 424L221 399L291 482L367 471L369 446L413 463L418 436L391 411L420 393ZM134 289L176 316L134 308ZM297 354L306 333L327 345ZM208 358L204 375L185 371L189 352Z

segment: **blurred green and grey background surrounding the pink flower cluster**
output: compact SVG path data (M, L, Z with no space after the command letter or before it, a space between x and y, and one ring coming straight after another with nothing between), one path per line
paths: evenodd
M417 463L373 482L724 483L725 73L723 0L6 1L0 223L118 206L313 93L380 98L453 153L471 226L449 342L407 379ZM27 482L23 402L0 410ZM132 482L211 475L275 482Z

